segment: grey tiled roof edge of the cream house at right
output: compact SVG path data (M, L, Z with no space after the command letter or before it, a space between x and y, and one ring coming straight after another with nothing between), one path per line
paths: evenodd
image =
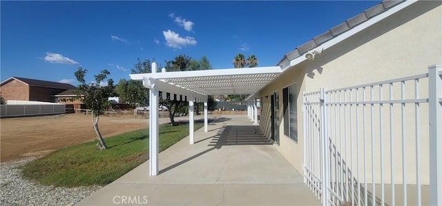
M299 56L302 56L303 54L309 52L310 50L313 50L314 48L318 48L323 43L330 41L332 39L335 39L336 37L340 36L341 34L352 30L352 28L355 28L357 25L361 25L361 23L364 23L368 21L369 19L373 19L374 17L378 16L379 14L382 14L383 12L386 12L387 10L390 10L391 8L394 8L394 6L397 6L399 3L404 2L405 0L401 1L383 1L381 3L378 3L376 6L373 6L372 8L369 8L360 14L357 14L356 16L347 19L343 23L340 23L339 25L336 25L334 28L331 28L324 32L323 34L319 34L318 36L314 37L310 41L307 41L305 43L302 43L298 47L296 47L291 52L285 54L282 56L282 59L277 63L277 65L282 65L282 62L285 60L291 61L293 59L298 58Z

